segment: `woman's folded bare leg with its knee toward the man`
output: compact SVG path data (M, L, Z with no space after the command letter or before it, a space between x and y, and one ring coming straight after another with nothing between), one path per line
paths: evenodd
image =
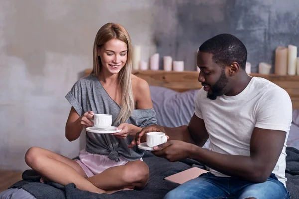
M110 167L98 175L87 178L103 190L142 189L148 179L149 167L140 160L128 162L124 166Z

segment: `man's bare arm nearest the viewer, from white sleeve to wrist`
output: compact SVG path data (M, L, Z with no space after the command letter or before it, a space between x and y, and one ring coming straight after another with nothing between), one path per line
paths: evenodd
M265 182L282 151L286 132L254 128L250 140L250 156L224 155L200 147L190 147L189 158L223 174L245 180Z

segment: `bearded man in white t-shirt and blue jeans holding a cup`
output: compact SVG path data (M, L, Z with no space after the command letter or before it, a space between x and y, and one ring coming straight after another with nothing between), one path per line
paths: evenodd
M289 199L286 189L286 140L292 121L288 93L245 72L247 51L230 34L204 42L197 54L202 83L188 126L144 128L162 131L165 144L154 154L169 161L197 160L210 172L170 191L166 199ZM210 139L210 150L203 149Z

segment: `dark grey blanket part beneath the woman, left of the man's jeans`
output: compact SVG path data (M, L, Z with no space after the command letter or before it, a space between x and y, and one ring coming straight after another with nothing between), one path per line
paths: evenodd
M15 183L10 188L23 188L37 199L162 199L167 192L178 186L176 183L164 180L164 177L190 168L194 164L192 160L185 162L170 163L164 158L159 158L146 152L143 156L144 162L149 166L149 181L147 186L141 190L120 191L113 194L95 194L81 191L75 184L70 183L62 186L58 183L39 183L40 176L33 170L23 173L22 181ZM188 163L188 164L187 164Z

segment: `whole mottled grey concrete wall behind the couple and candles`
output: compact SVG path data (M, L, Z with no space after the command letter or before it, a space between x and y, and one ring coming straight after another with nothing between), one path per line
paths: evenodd
M297 0L0 0L0 168L23 170L40 146L75 157L84 137L68 142L64 96L92 66L96 32L125 26L142 59L159 52L195 70L206 39L232 33L249 61L272 62L277 45L299 46ZM162 66L160 66L162 67ZM253 68L255 71L256 68Z

